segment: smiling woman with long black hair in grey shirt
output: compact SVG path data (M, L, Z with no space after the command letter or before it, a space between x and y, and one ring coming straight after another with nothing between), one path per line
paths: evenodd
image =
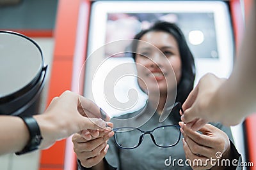
M156 22L141 31L132 42L132 57L147 104L111 120L115 138L108 140L104 132L91 140L75 134L79 168L236 169L234 164L218 164L240 159L228 127L206 124L194 132L180 122L180 106L193 89L195 64L179 27Z

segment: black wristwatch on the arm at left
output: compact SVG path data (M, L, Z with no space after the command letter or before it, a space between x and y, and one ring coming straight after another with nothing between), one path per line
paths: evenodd
M28 153L28 152L37 150L38 146L40 145L40 143L43 139L41 136L40 128L39 128L35 118L24 117L24 116L19 116L19 117L22 118L22 120L28 127L30 138L29 138L27 145L23 148L23 150L20 152L16 152L15 153L16 155L21 155L24 153Z

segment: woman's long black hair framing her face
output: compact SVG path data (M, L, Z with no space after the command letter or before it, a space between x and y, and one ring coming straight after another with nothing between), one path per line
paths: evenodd
M195 61L194 57L186 43L184 34L179 29L179 27L170 22L157 21L149 29L145 29L134 37L134 39L140 40L141 37L150 31L163 31L169 34L176 39L179 45L180 58L182 61L182 76L180 82L177 85L177 97L175 102L179 101L181 104L184 103L189 93L193 89L194 80L195 80ZM132 43L132 52L136 52L138 47L138 41ZM135 60L136 53L132 53L132 58ZM180 115L173 114L176 120L180 120Z

